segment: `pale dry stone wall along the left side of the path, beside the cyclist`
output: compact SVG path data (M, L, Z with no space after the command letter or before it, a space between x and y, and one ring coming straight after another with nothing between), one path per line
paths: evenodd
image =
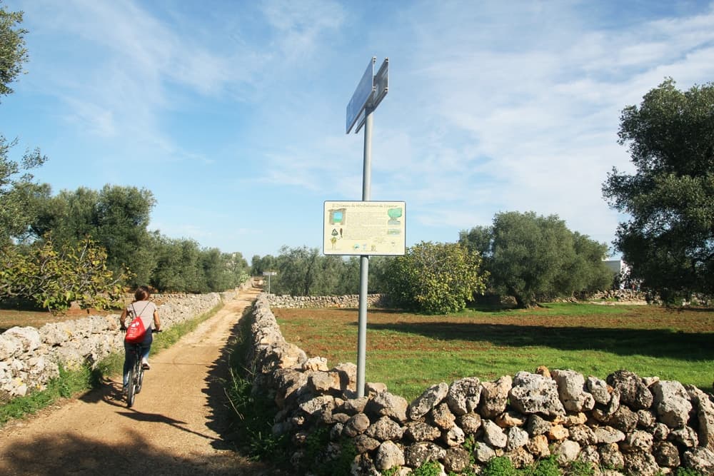
M241 288L249 287L250 282ZM236 291L201 295L153 295L159 305L161 327L206 313L221 300L235 297ZM89 315L86 318L49 323L36 329L14 327L0 334L0 402L42 390L59 375L59 365L79 368L99 362L110 353L124 349L124 333L119 330L119 314Z

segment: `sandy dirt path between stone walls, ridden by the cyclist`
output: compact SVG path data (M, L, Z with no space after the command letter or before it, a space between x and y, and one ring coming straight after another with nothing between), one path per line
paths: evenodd
M121 378L0 429L0 475L278 475L236 455L226 430L223 352L258 290L238 297L154 355L134 407Z

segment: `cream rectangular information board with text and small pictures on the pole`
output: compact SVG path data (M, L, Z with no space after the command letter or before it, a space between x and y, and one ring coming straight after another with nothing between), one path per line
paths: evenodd
M405 253L405 202L326 201L324 212L324 254L403 255Z

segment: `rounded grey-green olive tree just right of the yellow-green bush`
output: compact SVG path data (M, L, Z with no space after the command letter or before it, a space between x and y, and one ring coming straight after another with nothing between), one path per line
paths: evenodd
M555 215L497 213L493 226L462 231L459 241L483 255L491 287L524 308L613 283L603 263L607 245L568 230Z

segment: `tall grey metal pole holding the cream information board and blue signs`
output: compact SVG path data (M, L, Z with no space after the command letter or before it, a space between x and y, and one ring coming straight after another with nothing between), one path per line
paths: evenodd
M369 201L372 173L372 111L367 106L364 114L364 166L362 171L362 201ZM367 348L367 281L369 256L360 257L359 267L359 321L357 334L357 397L364 396L364 373Z

